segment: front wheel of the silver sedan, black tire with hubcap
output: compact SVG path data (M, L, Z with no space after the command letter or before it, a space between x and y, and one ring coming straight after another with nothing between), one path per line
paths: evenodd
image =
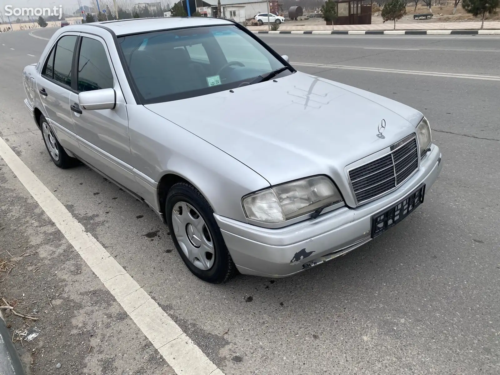
M213 210L194 186L178 182L170 188L165 199L165 216L173 243L195 276L206 282L221 283L236 273Z

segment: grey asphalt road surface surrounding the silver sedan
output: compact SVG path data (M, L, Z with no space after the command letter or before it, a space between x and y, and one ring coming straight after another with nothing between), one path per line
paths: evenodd
M441 175L412 215L299 275L203 283L145 205L84 166L56 168L22 103L22 67L46 43L27 32L0 34L0 136L228 375L500 373L500 80L486 79L500 78L500 38L262 39L294 63L348 66L296 64L299 70L418 108L443 153ZM353 68L360 66L368 69ZM429 71L441 75L422 74ZM442 74L450 72L459 75ZM249 115L258 112L248 105ZM47 311L39 336L24 348L17 343L26 363L34 357L32 373L56 373L57 362L65 366L59 373L171 373L0 163L0 235L18 259L2 294L25 293ZM25 251L32 255L20 257Z

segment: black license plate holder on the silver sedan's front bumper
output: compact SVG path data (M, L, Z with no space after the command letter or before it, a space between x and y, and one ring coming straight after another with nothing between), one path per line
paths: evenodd
M382 234L413 212L423 202L424 195L425 184L422 183L390 208L371 216L371 238Z

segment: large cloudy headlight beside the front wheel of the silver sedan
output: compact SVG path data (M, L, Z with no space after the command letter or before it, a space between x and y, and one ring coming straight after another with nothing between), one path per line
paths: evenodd
M330 179L315 176L244 196L242 204L247 218L277 223L341 200L342 196Z

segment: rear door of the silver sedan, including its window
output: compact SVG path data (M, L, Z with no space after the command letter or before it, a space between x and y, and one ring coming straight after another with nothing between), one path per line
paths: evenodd
M60 144L70 150L78 147L69 109L69 94L73 79L72 61L79 33L65 33L56 41L44 61L36 81L37 94L44 114Z

